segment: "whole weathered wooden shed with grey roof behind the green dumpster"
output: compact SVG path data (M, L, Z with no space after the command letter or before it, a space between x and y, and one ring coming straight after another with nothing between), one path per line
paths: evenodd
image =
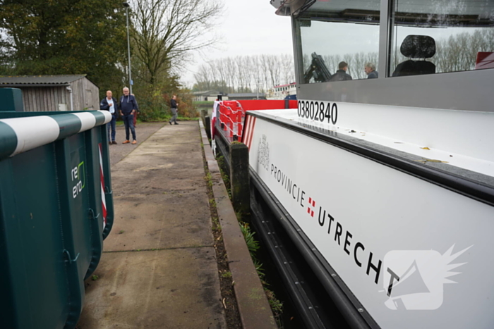
M0 87L21 89L26 112L100 109L100 90L86 75L2 76Z

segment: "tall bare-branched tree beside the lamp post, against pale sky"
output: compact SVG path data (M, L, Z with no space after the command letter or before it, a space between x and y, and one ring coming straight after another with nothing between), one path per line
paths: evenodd
M205 37L221 13L219 0L133 1L135 56L143 78L154 85L162 73L181 66L190 51L215 42Z

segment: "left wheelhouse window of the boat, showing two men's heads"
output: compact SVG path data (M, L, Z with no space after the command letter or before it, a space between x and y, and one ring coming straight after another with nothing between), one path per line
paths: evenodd
M379 11L379 0L316 1L303 11L301 83L378 77Z

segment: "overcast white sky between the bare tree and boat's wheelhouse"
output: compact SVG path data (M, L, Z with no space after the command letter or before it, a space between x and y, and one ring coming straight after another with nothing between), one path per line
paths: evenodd
M275 14L270 0L223 0L224 15L217 20L216 32L221 35L219 49L209 49L205 54L195 54L181 80L192 87L193 73L212 59L259 54L290 54L291 23L287 16Z

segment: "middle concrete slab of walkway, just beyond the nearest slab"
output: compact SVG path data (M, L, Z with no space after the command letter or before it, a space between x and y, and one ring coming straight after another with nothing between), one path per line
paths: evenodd
M115 197L115 223L104 251L212 246L205 192Z

